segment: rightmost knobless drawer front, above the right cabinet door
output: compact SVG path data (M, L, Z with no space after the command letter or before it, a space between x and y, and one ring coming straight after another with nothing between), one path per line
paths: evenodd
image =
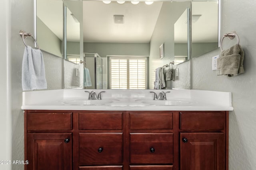
M180 112L181 130L224 130L225 112Z

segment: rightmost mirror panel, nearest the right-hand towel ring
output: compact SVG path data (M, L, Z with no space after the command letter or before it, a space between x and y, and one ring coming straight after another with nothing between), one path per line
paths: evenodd
M218 0L192 2L192 57L218 48Z

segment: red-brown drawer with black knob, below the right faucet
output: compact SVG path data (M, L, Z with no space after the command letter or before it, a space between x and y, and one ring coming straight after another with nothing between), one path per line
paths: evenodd
M130 163L173 163L172 133L130 133Z

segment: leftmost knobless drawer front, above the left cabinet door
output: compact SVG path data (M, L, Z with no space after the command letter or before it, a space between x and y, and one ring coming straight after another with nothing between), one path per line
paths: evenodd
M28 113L27 130L71 130L72 113Z

